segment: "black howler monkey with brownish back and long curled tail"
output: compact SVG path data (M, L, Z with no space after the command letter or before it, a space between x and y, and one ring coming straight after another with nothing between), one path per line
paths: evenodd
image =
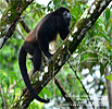
M27 52L33 57L34 71L41 71L42 56L41 52L52 62L52 55L49 52L49 43L57 38L58 33L61 39L65 39L70 33L70 22L71 22L70 10L66 8L59 8L54 12L47 14L37 26L28 34L25 39L18 55L20 70L26 87L30 92L34 98L41 102L49 102L49 99L43 99L36 94L30 85L30 81L27 74L26 68L26 55Z

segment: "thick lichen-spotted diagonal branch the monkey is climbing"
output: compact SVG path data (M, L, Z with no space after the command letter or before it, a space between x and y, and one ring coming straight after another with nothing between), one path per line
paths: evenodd
M97 19L100 16L102 11L108 7L111 0L96 0L90 8L88 8L82 17L76 23L70 37L64 40L62 46L53 56L53 63L46 66L45 72L38 77L38 73L34 75L32 82L34 84L34 89L39 94L41 89L52 80L52 76L58 74L60 69L69 60L70 56L76 50L77 46L84 38L85 34L94 25ZM52 69L53 68L53 69ZM30 93L25 89L23 95L17 99L17 101L12 106L14 108L27 108L30 101L33 101ZM21 105L20 105L21 104Z

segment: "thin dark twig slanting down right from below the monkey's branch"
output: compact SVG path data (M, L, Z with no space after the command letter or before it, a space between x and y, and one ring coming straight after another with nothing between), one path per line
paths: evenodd
M90 100L89 94L87 93L87 90L86 90L84 84L82 83L80 78L78 77L76 71L73 69L73 66L72 66L72 64L70 63L70 61L67 61L67 63L70 64L70 68L74 71L74 73L75 73L75 75L76 75L76 78L79 81L79 83L82 84L82 86L83 86L85 93L87 94L88 99L89 99L89 101L91 102L92 109L95 109L95 106L92 105L92 101Z

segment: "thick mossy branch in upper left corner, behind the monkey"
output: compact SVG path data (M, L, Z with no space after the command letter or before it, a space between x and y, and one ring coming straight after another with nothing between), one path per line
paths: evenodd
M5 9L5 12L3 13L0 22L0 49L13 35L21 14L33 1L34 0L9 1L9 5Z

